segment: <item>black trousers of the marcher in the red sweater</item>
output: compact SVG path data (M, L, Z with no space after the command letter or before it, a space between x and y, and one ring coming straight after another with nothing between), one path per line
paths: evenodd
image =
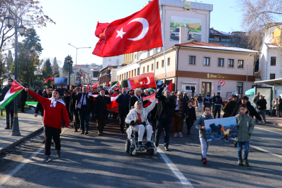
M45 155L51 155L51 141L52 138L55 143L56 150L61 150L61 140L60 134L62 132L61 129L56 129L54 127L49 127L48 125L44 125L44 136L45 136Z

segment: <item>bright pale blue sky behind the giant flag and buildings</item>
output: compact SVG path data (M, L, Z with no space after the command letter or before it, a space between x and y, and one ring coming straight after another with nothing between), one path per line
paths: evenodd
M77 64L102 64L102 58L92 54L98 38L95 36L97 21L113 22L141 10L148 0L39 0L45 15L56 24L36 29L43 47L40 58L54 58L63 63L70 54ZM202 0L198 3L213 4L210 27L219 31L242 31L240 13L233 7L235 0ZM91 47L75 49L75 47Z

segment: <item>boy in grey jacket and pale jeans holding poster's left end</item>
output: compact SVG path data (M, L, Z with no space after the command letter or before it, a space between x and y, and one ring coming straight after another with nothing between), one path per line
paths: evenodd
M212 119L210 111L211 111L211 107L205 106L203 109L203 115L200 118L198 118L198 120L196 121L196 125L195 125L195 127L199 130L203 164L207 164L207 149L210 146L210 142L207 141L207 136L205 134L205 122L204 121Z

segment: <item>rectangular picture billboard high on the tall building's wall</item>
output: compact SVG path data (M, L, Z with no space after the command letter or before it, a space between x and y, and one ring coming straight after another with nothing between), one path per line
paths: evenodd
M170 41L179 42L180 26L185 26L188 28L188 40L194 39L201 41L202 19L171 16L171 29L169 33Z

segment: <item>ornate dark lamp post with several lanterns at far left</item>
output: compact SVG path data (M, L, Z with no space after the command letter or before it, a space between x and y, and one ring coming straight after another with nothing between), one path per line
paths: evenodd
M15 18L12 15L15 16ZM10 29L13 24L15 24L15 81L17 81L17 30L19 29L19 34L21 36L24 36L24 31L26 30L26 27L22 25L22 19L17 16L17 10L15 10L15 13L10 10L9 7L9 14L7 17L4 17L6 24L8 25L8 28ZM19 22L17 22L17 19L19 19ZM21 23L20 26L18 24ZM17 97L14 99L14 121L13 121L13 127L12 132L10 133L11 136L20 136L19 132L19 119L17 116Z

